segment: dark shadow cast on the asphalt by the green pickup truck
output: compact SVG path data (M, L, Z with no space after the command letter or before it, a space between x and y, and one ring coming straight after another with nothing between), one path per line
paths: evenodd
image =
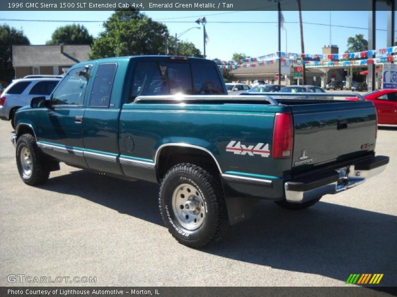
M84 187L76 186L81 181ZM152 183L79 170L50 178L41 188L79 196L163 225L157 204L158 186ZM358 197L350 199L360 204ZM289 211L263 201L251 220L233 226L223 241L201 252L321 275L341 281L340 285L350 273L384 273L381 284L396 286L396 226L397 216L343 205L319 202L310 209Z

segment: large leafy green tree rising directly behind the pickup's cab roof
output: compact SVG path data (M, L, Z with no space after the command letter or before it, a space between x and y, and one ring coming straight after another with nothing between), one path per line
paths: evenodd
M95 39L91 48L92 59L165 51L167 27L137 10L117 10L103 26L105 31Z

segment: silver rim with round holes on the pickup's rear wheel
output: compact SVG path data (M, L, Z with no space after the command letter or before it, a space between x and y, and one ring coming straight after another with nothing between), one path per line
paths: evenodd
M179 185L172 195L175 218L187 230L199 228L205 220L204 200L196 187Z

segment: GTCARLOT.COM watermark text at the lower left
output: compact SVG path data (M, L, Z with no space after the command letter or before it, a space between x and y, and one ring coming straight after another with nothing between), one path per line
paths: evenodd
M95 284L96 276L30 276L25 274L9 274L8 283L37 283L37 284Z

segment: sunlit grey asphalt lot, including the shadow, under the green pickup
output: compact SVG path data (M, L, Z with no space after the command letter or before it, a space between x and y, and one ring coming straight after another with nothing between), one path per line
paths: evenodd
M391 157L382 175L304 211L263 201L202 250L163 227L155 184L62 164L45 185L25 185L11 132L0 121L0 286L46 285L10 274L96 277L75 286L347 286L351 273L397 285L397 127L378 133L377 154Z

